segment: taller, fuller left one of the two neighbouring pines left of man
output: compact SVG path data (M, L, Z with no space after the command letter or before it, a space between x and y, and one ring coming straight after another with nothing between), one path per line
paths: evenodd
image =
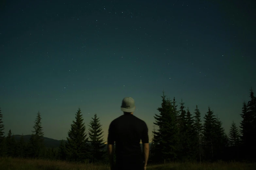
M67 149L67 158L70 161L83 161L89 158L88 137L85 133L85 125L81 113L81 109L78 108L76 121L73 120L71 130L68 131L68 142L65 146Z

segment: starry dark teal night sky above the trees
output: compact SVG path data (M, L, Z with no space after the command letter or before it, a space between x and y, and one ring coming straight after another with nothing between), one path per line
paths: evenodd
M80 106L107 140L124 97L152 138L162 91L239 125L256 91L255 4L204 0L1 1L0 107L14 135L66 139ZM179 107L179 106L178 106Z

